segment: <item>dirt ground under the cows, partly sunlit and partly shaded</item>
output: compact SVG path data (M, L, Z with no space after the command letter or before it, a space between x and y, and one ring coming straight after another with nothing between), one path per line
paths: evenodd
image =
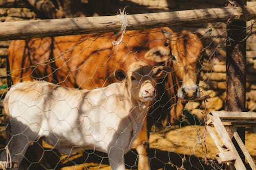
M204 145L205 141L205 145ZM256 163L256 136L251 131L246 131L246 148ZM4 138L0 138L1 148L4 148ZM44 144L47 161L54 169L82 170L82 169L111 169L108 157L97 151L79 151L73 155L59 154L49 145ZM30 149L32 150L32 149ZM28 153L33 153L29 151ZM151 169L217 169L215 155L218 149L208 133L205 134L205 126L185 126L150 135L150 149L148 157ZM31 162L33 155L26 157ZM205 161L207 160L207 161ZM205 164L208 163L208 165ZM45 169L37 163L26 162L29 169ZM126 169L137 169L138 156L135 149L125 155ZM219 165L225 169L224 165Z

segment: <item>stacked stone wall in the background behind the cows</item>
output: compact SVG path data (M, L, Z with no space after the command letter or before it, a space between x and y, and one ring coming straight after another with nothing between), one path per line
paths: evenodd
M82 0L84 10L88 16L115 15L119 9L123 9L129 14L135 13L152 13L166 12L177 10L189 10L200 8L218 8L224 7L223 0ZM249 3L249 2L248 2ZM0 0L0 19L4 21L38 19L38 11L36 12L27 1L22 0ZM252 21L248 21L247 27ZM204 87L203 94L210 95L211 98L207 102L190 102L186 105L188 110L197 114L199 117L209 110L223 110L225 106L225 88L226 88L226 62L225 62L225 23L204 23L194 26L177 26L172 27L174 31L190 30L204 33L208 29L212 29L212 33L207 41L204 42L206 49L210 51L208 58L205 59L201 74L201 85ZM249 32L249 29L248 29ZM247 75L246 75L246 108L256 111L256 26L252 28L250 37L247 39L246 55L247 55ZM6 84L6 58L7 48L10 41L0 42L0 86ZM217 55L214 53L216 47L220 50ZM222 50L222 51L221 51ZM212 55L212 56L211 56ZM213 56L214 55L214 56Z

